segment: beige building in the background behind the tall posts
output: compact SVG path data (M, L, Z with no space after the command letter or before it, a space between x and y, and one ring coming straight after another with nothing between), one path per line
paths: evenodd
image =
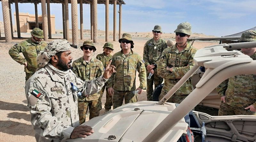
M21 33L30 33L36 27L36 16L29 13L19 13L20 18L20 32ZM13 32L17 32L17 23L16 23L16 14L14 13L15 26ZM42 15L38 15L38 27L43 30L42 25ZM55 34L55 16L51 15L51 27L52 34ZM48 27L49 28L49 27Z

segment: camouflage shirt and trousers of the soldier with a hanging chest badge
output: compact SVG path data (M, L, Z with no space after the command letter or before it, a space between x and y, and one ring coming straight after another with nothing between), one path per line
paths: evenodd
M150 64L156 64L156 61L161 56L164 49L167 48L166 42L163 39L159 39L158 42L154 42L154 38L148 40L144 45L143 60L145 61L145 66ZM147 77L149 75L148 70ZM157 75L157 68L154 69L154 74L150 79L147 78L147 98L148 101L152 101L153 93L153 83L155 88L163 82L164 78Z

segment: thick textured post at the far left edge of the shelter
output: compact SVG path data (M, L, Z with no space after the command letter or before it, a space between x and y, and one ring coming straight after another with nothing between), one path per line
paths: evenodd
M11 22L10 22L8 0L2 0L2 11L3 11L3 19L4 19L5 42L11 42L12 34L11 34Z

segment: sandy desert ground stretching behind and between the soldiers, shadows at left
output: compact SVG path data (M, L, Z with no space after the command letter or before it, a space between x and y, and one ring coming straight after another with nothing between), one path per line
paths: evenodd
M103 33L103 32L101 32ZM104 33L103 33L104 34ZM97 50L95 55L102 53L103 45L105 43L105 36L99 34L99 43L95 43ZM133 35L134 52L139 53L141 56L143 54L143 47L145 42L152 38L152 33L131 33ZM17 37L17 33L14 33L14 37ZM137 36L139 35L139 36ZM148 35L146 37L146 35ZM209 37L203 34L194 34L197 37ZM24 66L18 64L8 54L8 50L15 44L20 41L25 40L15 38L12 43L4 43L3 33L0 38L0 66L1 66L1 88L0 88L0 141L14 142L14 141L24 141L24 142L34 142L34 130L30 123L30 114L27 107L27 100L25 97L25 72ZM21 34L22 37L30 37L30 34ZM174 34L164 36L164 39L173 38ZM61 35L53 35L53 38L61 38ZM71 37L71 36L70 36ZM135 38L136 37L136 38ZM140 37L140 38L137 38ZM142 38L141 38L142 37ZM118 36L117 36L118 38ZM89 32L84 33L84 39L89 40ZM80 40L79 44L81 45L84 40ZM114 45L114 53L120 51L120 43L118 41L113 41L113 37L110 36L110 41ZM72 42L72 41L70 41ZM218 44L218 41L213 42L195 42L194 47L200 49L205 46ZM83 55L83 52L80 49L71 49L73 61ZM139 86L139 79L137 77L136 84ZM106 97L105 93L103 94L102 104L105 103ZM139 95L139 101L147 100L146 90ZM102 106L101 114L104 112L104 106Z

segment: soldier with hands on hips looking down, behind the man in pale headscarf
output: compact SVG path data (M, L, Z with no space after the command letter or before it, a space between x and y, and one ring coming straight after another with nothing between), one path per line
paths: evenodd
M10 50L9 54L13 60L19 64L24 65L24 71L26 72L26 81L30 78L37 68L36 57L40 51L43 51L47 43L43 42L44 38L43 30L34 28L31 32L31 38L26 41L22 41L15 44ZM23 54L22 57L19 53Z

